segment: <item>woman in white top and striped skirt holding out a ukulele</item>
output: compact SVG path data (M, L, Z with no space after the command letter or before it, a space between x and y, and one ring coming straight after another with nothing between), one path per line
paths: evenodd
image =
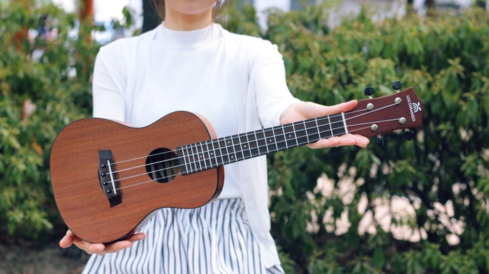
M142 127L165 114L203 114L219 137L346 112L293 98L282 56L268 41L214 24L215 0L166 0L154 31L101 48L94 71L94 116ZM362 146L368 139L321 139L313 149ZM83 273L283 273L270 236L266 160L225 166L219 198L195 209L163 208L142 231L110 245L73 243L92 255ZM99 256L103 255L103 256Z

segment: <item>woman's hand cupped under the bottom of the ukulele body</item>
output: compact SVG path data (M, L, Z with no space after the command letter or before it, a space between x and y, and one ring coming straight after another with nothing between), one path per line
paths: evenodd
M66 231L66 235L61 239L61 241L59 241L59 246L61 248L69 248L74 243L78 248L80 248L80 250L83 250L88 254L104 255L123 250L124 248L130 248L134 242L141 241L143 238L146 238L145 233L136 233L129 236L129 238L126 238L124 241L104 245L103 243L88 243L83 241L75 236L71 230L68 230Z

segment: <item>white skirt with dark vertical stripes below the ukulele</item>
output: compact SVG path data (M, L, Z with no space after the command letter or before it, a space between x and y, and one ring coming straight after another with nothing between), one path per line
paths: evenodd
M281 266L265 268L242 199L163 208L141 230L147 234L143 241L92 255L82 274L284 273Z

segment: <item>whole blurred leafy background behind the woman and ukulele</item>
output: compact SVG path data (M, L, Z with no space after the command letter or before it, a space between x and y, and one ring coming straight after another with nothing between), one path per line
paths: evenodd
M80 273L61 250L50 147L91 116L98 49L153 29L146 0L0 0L0 274ZM234 0L217 21L278 45L294 96L413 86L423 128L268 156L286 273L489 273L489 1Z

